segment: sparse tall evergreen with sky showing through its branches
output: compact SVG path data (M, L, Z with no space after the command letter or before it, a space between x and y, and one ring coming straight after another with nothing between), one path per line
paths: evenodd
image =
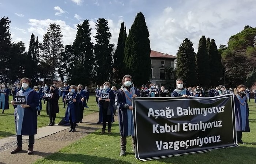
M60 53L63 51L62 36L60 25L55 23L49 24L49 28L46 30L44 40L41 45L42 61L48 64L49 72L51 76L51 82L57 80L55 76L59 67Z

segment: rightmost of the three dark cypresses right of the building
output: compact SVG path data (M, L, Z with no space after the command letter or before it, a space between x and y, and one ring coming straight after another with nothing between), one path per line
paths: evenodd
M221 54L218 51L215 40L211 39L209 48L209 65L210 65L210 78L211 86L217 87L220 83L219 79L223 76L223 65L221 63Z

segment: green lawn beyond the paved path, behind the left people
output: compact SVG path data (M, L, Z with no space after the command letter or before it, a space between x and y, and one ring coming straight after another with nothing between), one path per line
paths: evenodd
M9 97L9 101L11 102L12 96ZM90 96L87 106L90 108L84 108L84 116L89 115L91 113L97 112L99 109L97 107L95 96ZM59 99L59 109L60 113L56 114L55 124L58 124L60 120L65 116L65 110L63 107L62 99ZM0 109L0 139L4 137L8 137L11 135L15 135L15 122L14 122L14 107L9 104L8 110L4 110L4 114L1 114L2 109ZM49 116L46 114L46 103L42 101L42 111L40 116L37 119L37 128L48 126L50 120Z

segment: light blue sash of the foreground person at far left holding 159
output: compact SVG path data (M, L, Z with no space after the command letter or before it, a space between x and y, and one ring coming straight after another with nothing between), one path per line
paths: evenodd
M26 91L20 90L17 95L26 96L26 103L27 103L27 98L32 91L34 90L31 88L28 88ZM39 104L39 101L38 101L38 104ZM25 108L22 108L21 105L17 105L16 135L21 135L24 113L25 113Z

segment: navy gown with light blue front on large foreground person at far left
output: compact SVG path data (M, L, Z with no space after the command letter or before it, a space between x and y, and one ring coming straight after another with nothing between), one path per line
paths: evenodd
M26 90L28 91L28 90ZM20 90L16 95L22 95L24 91ZM29 108L23 108L23 110L17 110L15 105L15 125L16 135L35 135L37 133L37 107L39 105L38 93L34 90L27 96L27 105Z

